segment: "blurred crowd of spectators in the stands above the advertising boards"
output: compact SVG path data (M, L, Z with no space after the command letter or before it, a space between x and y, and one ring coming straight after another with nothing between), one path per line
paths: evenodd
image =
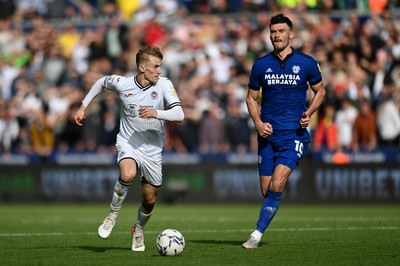
M77 3L79 2L79 6ZM293 47L314 56L327 99L312 152L400 149L400 1L5 0L0 3L0 151L46 160L114 153L118 97L105 93L83 127L73 115L103 75L135 75L143 45L164 54L185 121L165 152L256 152L245 105L250 68L272 51L269 17L293 20Z

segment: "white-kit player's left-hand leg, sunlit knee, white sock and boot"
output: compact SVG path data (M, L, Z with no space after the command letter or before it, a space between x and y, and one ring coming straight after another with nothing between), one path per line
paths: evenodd
M122 203L124 202L126 195L128 194L129 186L137 173L136 161L132 158L124 158L119 162L119 169L120 176L114 185L113 196L110 203L110 212L98 229L98 234L101 238L107 238L110 236L112 229L118 220Z

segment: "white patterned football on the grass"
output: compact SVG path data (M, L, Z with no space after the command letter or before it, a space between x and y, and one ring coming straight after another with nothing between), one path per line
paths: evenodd
M165 229L156 239L158 253L162 256L178 256L185 249L185 238L175 229Z

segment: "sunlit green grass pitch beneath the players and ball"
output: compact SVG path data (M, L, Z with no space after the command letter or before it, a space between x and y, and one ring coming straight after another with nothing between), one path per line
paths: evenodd
M260 247L243 249L259 207L158 204L146 251L132 252L137 204L123 206L106 240L97 227L108 203L0 204L0 265L400 265L399 205L282 203ZM156 236L167 228L185 237L180 256L157 253Z

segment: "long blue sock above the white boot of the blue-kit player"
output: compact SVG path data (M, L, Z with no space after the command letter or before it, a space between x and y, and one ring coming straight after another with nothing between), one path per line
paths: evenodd
M271 223L281 203L282 192L274 192L268 189L268 196L264 200L260 211L260 216L257 221L256 230L264 233L268 225Z

